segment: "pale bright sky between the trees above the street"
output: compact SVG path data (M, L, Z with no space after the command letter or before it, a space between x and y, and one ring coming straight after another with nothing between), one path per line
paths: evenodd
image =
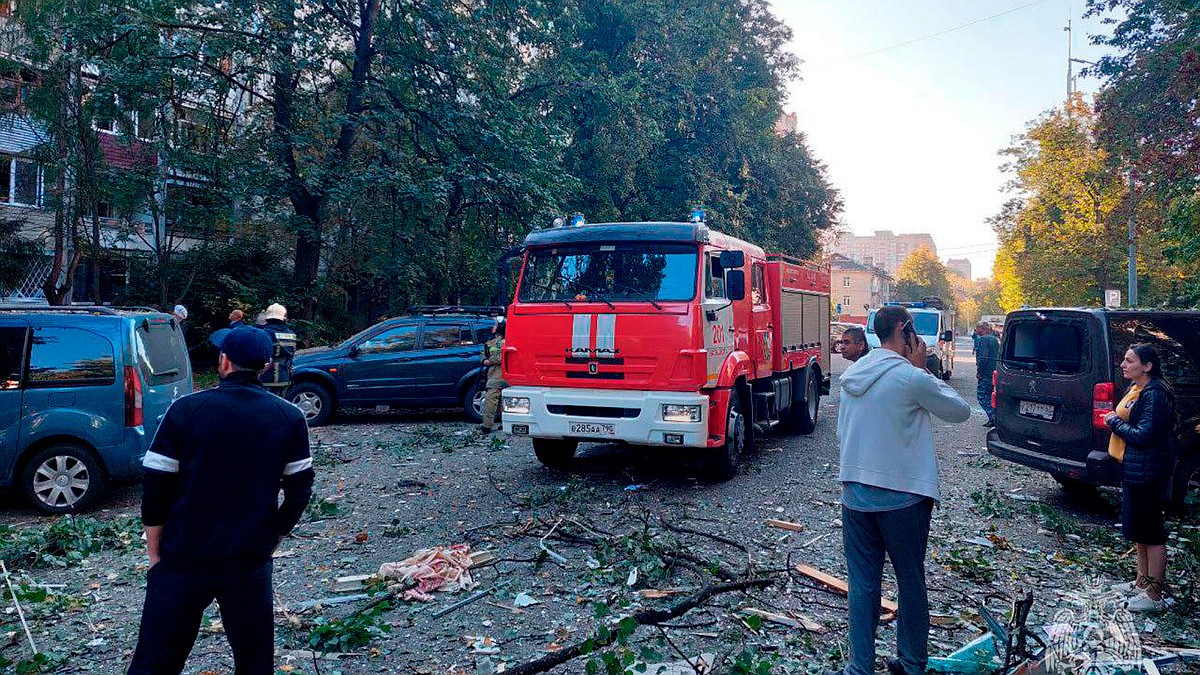
M1076 59L1100 55L1090 36L1106 26L1082 18L1084 0L773 6L803 59L785 109L798 114L799 131L841 190L844 226L856 234L929 232L943 261L970 258L977 279L989 276L996 237L986 219L1006 199L997 151L1026 123L1062 106L1068 18ZM1078 74L1084 66L1074 67ZM1098 82L1080 77L1076 88L1093 92Z

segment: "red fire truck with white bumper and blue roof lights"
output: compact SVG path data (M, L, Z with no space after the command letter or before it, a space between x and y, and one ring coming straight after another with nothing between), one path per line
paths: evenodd
M812 432L829 392L829 268L690 222L528 235L503 352L504 430L568 466L581 441L696 448L728 478L756 434Z

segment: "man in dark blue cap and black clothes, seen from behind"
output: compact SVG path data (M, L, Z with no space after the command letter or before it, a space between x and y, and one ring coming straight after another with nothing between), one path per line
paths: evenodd
M221 386L172 404L143 460L150 571L130 675L181 673L214 599L234 671L275 673L271 552L312 496L308 426L258 381L265 331L217 330L212 342Z

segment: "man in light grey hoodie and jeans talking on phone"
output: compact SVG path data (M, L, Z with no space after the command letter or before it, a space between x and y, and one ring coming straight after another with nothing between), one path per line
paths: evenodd
M845 675L875 671L883 555L900 590L894 675L929 662L925 552L934 502L941 498L931 416L966 422L971 406L925 370L926 346L901 306L875 313L880 350L841 376L842 543L850 573L850 661Z

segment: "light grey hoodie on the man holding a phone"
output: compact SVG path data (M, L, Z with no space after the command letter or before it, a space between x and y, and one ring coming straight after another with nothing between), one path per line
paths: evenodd
M966 422L971 406L896 352L871 350L841 376L838 479L940 500L930 413Z

